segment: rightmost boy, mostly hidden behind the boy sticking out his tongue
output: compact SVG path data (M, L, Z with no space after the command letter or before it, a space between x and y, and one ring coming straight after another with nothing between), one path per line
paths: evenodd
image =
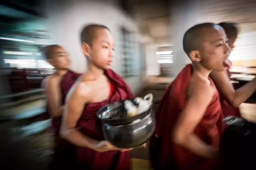
M234 42L238 35L238 29L235 23L221 22L219 23L228 37L228 45L231 49L234 48ZM230 62L231 64L231 62ZM215 83L221 97L221 107L224 117L238 116L240 117L239 106L247 100L256 90L256 78L243 87L234 90L230 83L230 72L227 69L225 72L217 72L213 70L210 73L210 78Z

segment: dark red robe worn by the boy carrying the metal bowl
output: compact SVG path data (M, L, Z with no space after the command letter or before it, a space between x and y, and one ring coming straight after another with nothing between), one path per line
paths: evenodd
M104 136L101 120L96 117L97 111L106 104L133 98L128 85L121 76L113 72L113 70L105 70L104 74L114 87L111 96L102 102L85 105L78 121L78 126L83 134L99 141L104 140ZM78 164L84 170L130 170L129 151L100 153L87 147L77 147L76 151Z

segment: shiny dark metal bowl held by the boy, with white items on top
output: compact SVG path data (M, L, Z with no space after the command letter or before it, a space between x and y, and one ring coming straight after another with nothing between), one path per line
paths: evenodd
M103 124L103 134L106 140L120 148L133 148L148 141L156 126L151 114L152 94L146 95L144 100L148 100L149 105L145 111L134 116L127 115L124 101L107 104L97 112L97 117ZM130 101L138 105L136 99Z

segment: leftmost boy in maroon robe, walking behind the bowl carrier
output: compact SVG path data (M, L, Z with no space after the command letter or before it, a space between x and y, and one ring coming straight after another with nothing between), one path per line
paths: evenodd
M44 47L42 51L46 60L56 70L54 74L46 77L42 82L47 94L47 114L52 117L52 129L54 130L54 161L51 168L65 168L72 165L71 158L75 150L69 142L60 138L59 130L65 97L80 74L69 70L70 60L63 47L49 45Z

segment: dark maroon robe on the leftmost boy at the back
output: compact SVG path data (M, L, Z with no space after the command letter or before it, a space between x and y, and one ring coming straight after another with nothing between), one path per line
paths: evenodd
M61 101L62 105L65 104L65 98L69 89L74 85L75 81L78 79L80 74L72 72L69 70L61 79ZM48 107L47 107L48 110ZM49 115L49 114L48 114ZM62 139L59 136L59 131L61 128L62 116L52 118L52 129L54 131L54 162L52 168L66 167L67 165L72 165L75 162L75 147L67 142L67 140ZM69 164L70 163L70 164Z

